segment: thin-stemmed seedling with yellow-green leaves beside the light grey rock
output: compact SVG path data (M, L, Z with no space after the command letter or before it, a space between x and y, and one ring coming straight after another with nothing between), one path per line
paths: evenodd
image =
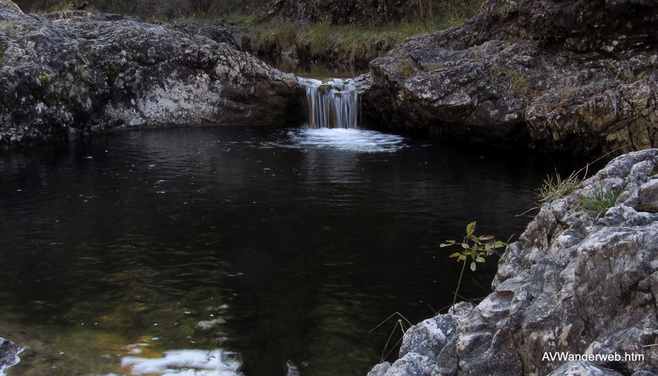
M497 253L496 248L507 246L507 243L500 240L497 241L493 235L480 235L479 237L473 235L475 230L476 222L471 222L466 226L466 236L464 236L461 243L458 243L456 240L446 240L446 243L439 245L440 247L459 245L463 248L461 252L455 252L449 256L457 257L457 262L464 261L462 273L459 275L459 281L457 282L457 288L455 289L455 297L453 297L453 306L457 302L457 294L462 284L464 269L466 268L466 263L469 257L471 257L471 270L475 271L478 267L476 262L485 262L486 258L492 253Z

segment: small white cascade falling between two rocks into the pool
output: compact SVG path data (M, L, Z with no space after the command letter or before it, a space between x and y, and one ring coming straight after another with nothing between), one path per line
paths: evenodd
M300 83L306 86L308 128L357 128L361 101L353 79L300 79Z

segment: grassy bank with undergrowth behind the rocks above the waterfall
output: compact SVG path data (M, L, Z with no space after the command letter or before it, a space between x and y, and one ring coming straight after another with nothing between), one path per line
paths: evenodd
M296 52L307 61L341 61L365 66L413 35L456 26L473 17L483 0L397 0L375 6L356 0L353 14L333 17L337 6L318 6L299 23L274 1L228 0L17 0L26 12L88 9L144 19L223 19L250 31L247 50L262 54ZM404 6L400 6L404 5ZM346 11L344 11L346 12ZM395 15L394 15L395 14ZM330 17L331 16L331 17ZM352 21L353 17L357 17ZM349 19L347 19L349 18Z

